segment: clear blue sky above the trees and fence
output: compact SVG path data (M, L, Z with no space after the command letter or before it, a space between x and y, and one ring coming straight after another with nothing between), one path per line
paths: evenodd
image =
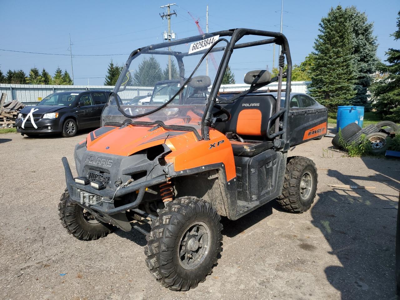
M168 3L178 16L171 19L178 38L198 34L190 11L206 29L206 4L209 5L209 31L247 27L279 31L280 0L277 1L5 1L1 0L2 29L0 49L28 52L69 54L68 34L71 34L73 54L124 54L162 42L167 22L160 18L159 8ZM378 56L400 48L390 36L396 30L400 1L297 1L284 0L283 33L289 40L292 60L300 63L313 49L318 23L331 6L357 6L374 22L378 36ZM260 58L272 66L272 46ZM276 48L278 52L278 47ZM264 56L267 56L265 58ZM73 57L75 84L103 84L110 59L123 64L127 55ZM257 60L257 59L255 59ZM270 60L270 62L268 62ZM22 69L26 73L36 66L50 74L58 66L71 73L69 56L50 56L0 51L0 69ZM264 66L260 66L264 67ZM234 70L236 81L242 82L243 70Z

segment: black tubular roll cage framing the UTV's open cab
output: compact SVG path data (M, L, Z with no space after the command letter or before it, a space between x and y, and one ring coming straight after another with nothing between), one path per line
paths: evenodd
M190 42L197 42L199 40L204 40L206 38L210 38L212 36L219 35L220 37L224 36L230 36L231 39L229 41L229 44L224 47L218 47L218 48L213 48L209 51L209 53L212 52L217 52L217 51L224 51L222 60L220 62L220 65L218 67L216 79L214 80L214 84L211 87L210 91L210 101L208 101L206 110L204 112L203 118L202 118L202 130L201 130L201 137L204 140L209 140L209 126L212 121L212 108L214 107L214 104L216 102L216 98L218 95L218 91L220 89L220 86L222 84L222 79L224 77L226 68L228 67L228 62L230 60L230 57L232 55L232 52L234 49L240 49L240 48L247 48L247 47L252 47L252 46L259 46L259 45L265 45L265 44L278 44L282 47L282 52L280 55L286 56L286 63L287 63L287 70L286 70L286 92L285 93L285 105L284 108L280 110L280 94L281 94L281 87L282 87L282 77L283 77L283 70L282 66L279 68L279 74L278 76L278 97L276 101L276 112L271 116L271 118L268 120L268 126L271 126L272 123L275 121L275 133L270 134L269 133L269 128L267 130L267 136L268 138L276 138L276 141L274 143L276 148L285 150L288 150L289 144L288 144L288 116L289 116L289 104L290 104L290 84L291 84L291 77L292 77L292 58L290 56L290 50L289 50L289 44L288 40L284 36L284 34L280 32L272 32L272 31L264 31L264 30L256 30L256 29L247 29L247 28L236 28L232 30L223 30L223 31L217 31L217 32L211 32L208 34L202 34L198 36L191 36L188 38L183 38L180 40L174 40L170 42L164 42L160 44L154 44L150 46L146 46L143 48L139 48L134 50L129 58L126 64L124 65L124 68L121 71L121 74L126 74L128 72L128 67L129 67L129 62L134 56L138 54L161 54L161 55L172 55L177 58L178 61L178 67L184 68L183 67L183 62L182 62L182 57L185 56L192 56L192 55L198 55L198 54L204 54L207 52L208 49L201 50L198 52L194 52L191 54L182 53L182 52L176 52L176 51L168 51L168 50L157 50L160 48L167 48L171 46L175 46L178 44L183 44L183 43L190 43ZM254 36L265 36L265 37L270 37L265 40L258 40L254 42L246 42L242 44L236 44L243 36L246 35L254 35ZM182 70L180 70L182 71ZM122 82L124 80L125 76L120 76L116 82L116 87L121 86ZM118 90L114 88L114 93L117 93ZM282 130L279 130L279 117L283 114L283 128ZM282 135L282 139L278 139L278 136Z

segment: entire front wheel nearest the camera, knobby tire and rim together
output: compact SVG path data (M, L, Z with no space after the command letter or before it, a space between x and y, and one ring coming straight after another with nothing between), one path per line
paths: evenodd
M166 204L154 220L144 250L150 273L170 290L189 290L211 274L221 252L220 216L196 197Z

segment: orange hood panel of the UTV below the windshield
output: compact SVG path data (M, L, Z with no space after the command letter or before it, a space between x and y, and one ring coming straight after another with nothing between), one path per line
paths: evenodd
M89 151L130 156L140 150L165 144L167 140L178 136L183 138L185 143L196 142L193 132L166 130L161 126L126 125L104 126L90 132L86 147Z

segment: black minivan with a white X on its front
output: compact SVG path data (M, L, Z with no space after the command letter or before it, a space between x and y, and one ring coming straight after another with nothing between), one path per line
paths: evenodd
M71 137L78 129L100 127L100 117L110 96L107 90L54 93L36 106L24 107L15 122L17 132L36 136L61 132Z

